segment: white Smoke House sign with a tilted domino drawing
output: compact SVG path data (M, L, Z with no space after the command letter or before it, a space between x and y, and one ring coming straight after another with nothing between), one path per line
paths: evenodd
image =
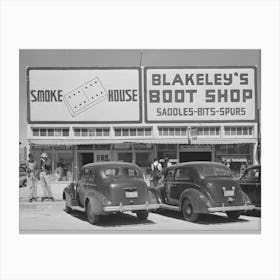
M140 68L28 68L30 123L141 122Z

